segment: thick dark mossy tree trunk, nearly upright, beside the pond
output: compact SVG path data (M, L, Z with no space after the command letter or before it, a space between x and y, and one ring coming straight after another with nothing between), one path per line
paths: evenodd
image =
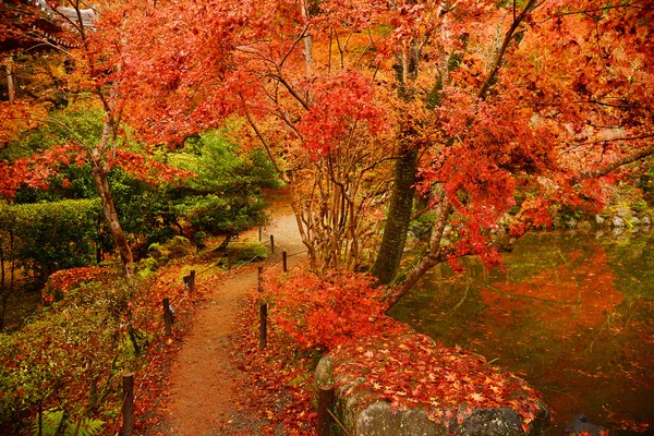
M405 150L396 162L395 181L386 226L384 227L384 238L372 270L373 275L383 284L390 283L402 261L409 221L413 209L413 196L415 194L413 184L415 183L416 165L417 148L415 147Z

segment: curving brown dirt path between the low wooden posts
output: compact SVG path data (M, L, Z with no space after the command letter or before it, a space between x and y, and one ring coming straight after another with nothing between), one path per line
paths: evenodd
M258 232L257 232L258 233ZM288 207L274 207L275 264L282 250L289 255L303 252L295 218ZM258 234L244 235L258 239ZM289 257L292 265L304 255ZM281 270L281 264L272 268ZM237 379L241 374L229 359L229 337L235 334L239 302L256 286L256 266L238 269L209 295L193 320L187 339L170 371L170 434L174 436L218 435L221 423L231 419L237 405Z

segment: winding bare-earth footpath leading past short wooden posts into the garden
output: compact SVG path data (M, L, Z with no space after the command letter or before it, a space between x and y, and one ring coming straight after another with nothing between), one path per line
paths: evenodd
M305 256L295 218L288 198L272 202L272 220L264 238L275 238L275 255L266 269L281 271L281 252L289 254L291 267ZM241 234L241 241L257 241L258 229ZM202 277L198 278L202 280ZM181 349L172 360L168 377L160 380L165 395L161 420L147 435L214 436L259 434L258 419L242 407L244 390L251 382L230 358L239 335L239 314L247 295L256 290L257 266L249 265L229 272L209 290L195 312ZM253 387L250 387L253 388Z

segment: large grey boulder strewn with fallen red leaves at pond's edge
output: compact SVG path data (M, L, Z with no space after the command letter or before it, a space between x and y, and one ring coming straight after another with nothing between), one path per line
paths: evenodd
M335 403L331 410L339 423L334 423L332 428L336 429L342 425L347 429L346 433L339 428L336 434L352 436L446 436L451 434L524 436L541 435L549 425L549 410L541 395L526 382L508 371L486 365L485 360L481 356L461 350L447 349L425 335L414 331L383 335L373 340L375 341L374 346L371 346L370 340L363 340L354 342L348 348L332 350L323 356L315 370L314 387L316 392L329 388L335 390ZM407 347L403 344L411 342L419 344L416 349L424 350L432 347L432 354L444 355L447 353L448 361L461 359L464 365L471 364L472 361L484 363L486 368L483 365L471 368L475 372L476 379L486 377L488 380L497 375L506 377L511 389L504 392L505 403L497 401L493 401L491 404L475 403L474 401L452 403L451 399L446 403L439 403L439 401L429 403L412 398L411 392L402 396L401 402L398 403L397 396L386 395L392 388L380 386L384 382L371 382L372 378L379 380L379 374L375 374L374 368L366 367L371 366L371 360L366 358L371 358L371 354L378 354L380 350L386 350L389 352L386 353L388 360L384 365L398 364L403 367L405 363L402 364L401 360L395 359L399 355L393 347L399 343L401 351L404 352ZM420 359L421 356L416 355L415 358ZM438 372L440 368L434 370ZM487 372L487 375L484 372ZM424 379L426 375L416 371L414 376L415 379L421 377ZM455 374L453 377L457 376L460 376L462 380L470 379L464 372ZM449 377L452 377L451 373ZM389 385L392 385L392 382L397 380L388 382ZM438 382L434 382L434 384L437 385ZM474 385L474 383L472 384ZM438 400L440 399L438 398Z

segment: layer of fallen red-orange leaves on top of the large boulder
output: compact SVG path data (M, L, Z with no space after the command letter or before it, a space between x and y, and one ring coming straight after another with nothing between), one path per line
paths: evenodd
M438 346L424 335L361 336L330 354L337 389L346 395L371 390L376 397L372 401L386 399L393 409L425 408L431 419L446 426L453 420L461 423L474 409L509 408L529 432L542 401L521 378L488 366L479 354Z

